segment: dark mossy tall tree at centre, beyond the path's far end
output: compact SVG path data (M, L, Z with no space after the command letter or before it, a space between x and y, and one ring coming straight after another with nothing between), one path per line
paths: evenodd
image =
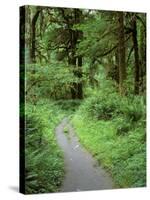
M71 86L72 99L82 99L82 56L77 56L77 45L79 40L82 39L82 31L76 30L74 25L80 24L82 18L82 11L80 9L74 9L70 15L70 12L66 9L61 9L63 18L65 19L69 31L69 48L68 48L68 64L72 67L74 76L78 78L78 82L73 82ZM69 20L70 17L70 20Z

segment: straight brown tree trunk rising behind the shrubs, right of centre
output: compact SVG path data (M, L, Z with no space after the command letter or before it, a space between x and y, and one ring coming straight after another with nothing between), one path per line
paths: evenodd
M124 14L118 12L118 39L119 39L119 91L125 94L124 81L126 80L126 62L125 62L125 33L124 33Z

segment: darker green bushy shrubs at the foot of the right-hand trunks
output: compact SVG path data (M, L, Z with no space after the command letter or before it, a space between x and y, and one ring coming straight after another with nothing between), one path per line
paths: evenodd
M111 91L110 91L111 89ZM114 89L105 88L88 98L81 113L97 120L113 120L116 134L124 135L138 124L145 126L145 104L141 96L120 96Z

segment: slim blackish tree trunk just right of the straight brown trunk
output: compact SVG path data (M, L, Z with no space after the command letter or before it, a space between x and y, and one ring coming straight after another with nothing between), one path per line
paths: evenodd
M135 60L134 93L139 94L140 64L139 64L139 52L138 52L138 41L137 41L137 24L135 16L133 16L132 40L133 40L134 60Z

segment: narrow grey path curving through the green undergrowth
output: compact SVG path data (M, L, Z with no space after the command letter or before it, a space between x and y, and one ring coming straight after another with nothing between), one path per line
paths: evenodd
M67 133L64 133L64 127L67 127ZM56 136L65 159L66 174L62 192L113 188L112 179L80 145L67 118L57 126Z

